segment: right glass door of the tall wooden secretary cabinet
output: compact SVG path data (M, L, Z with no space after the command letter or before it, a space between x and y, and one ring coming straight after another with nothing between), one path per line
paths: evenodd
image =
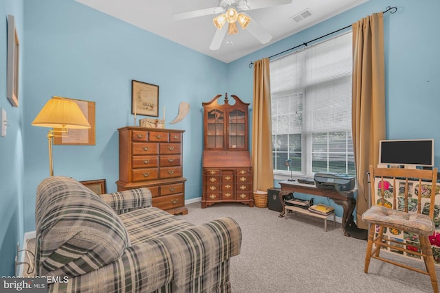
M245 145L245 113L232 110L229 113L228 148L244 150Z

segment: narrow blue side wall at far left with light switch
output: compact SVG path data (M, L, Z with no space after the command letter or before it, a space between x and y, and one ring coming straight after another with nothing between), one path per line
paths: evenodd
M19 67L19 108L14 108L6 99L8 14L15 17L23 54L23 1L0 0L0 108L6 110L9 124L6 137L0 137L0 276L14 274L16 245L23 239L24 61Z

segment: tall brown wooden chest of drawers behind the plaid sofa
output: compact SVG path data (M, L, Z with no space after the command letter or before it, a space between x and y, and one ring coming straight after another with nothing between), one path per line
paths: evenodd
M182 177L185 130L126 126L118 132L118 191L148 187L153 207L186 215L186 178Z

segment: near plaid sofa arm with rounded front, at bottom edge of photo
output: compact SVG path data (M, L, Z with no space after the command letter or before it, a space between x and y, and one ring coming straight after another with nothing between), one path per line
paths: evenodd
M151 240L126 248L124 254L100 269L66 283L49 285L49 292L153 292L170 283L173 265L164 244Z

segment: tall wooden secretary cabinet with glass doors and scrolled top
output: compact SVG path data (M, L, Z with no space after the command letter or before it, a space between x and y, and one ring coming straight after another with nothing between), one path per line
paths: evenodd
M248 150L248 107L236 95L229 104L221 95L203 105L203 194L204 209L217 202L241 202L254 207L252 163Z

